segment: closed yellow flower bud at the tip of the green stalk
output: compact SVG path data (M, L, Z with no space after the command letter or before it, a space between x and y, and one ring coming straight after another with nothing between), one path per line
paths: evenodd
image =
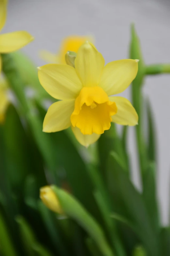
M63 214L60 202L50 186L40 188L40 198L51 211Z

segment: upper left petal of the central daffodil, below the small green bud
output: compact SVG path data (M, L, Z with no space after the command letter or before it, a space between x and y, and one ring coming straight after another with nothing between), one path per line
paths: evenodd
M56 99L75 99L82 84L75 68L68 65L47 64L38 68L42 87Z

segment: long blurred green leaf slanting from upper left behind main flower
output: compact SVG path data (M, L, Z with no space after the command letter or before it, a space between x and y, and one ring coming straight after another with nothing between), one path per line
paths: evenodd
M23 115L26 117L28 124L33 133L34 139L38 145L38 148L45 160L46 165L54 176L56 184L58 184L56 173L56 164L54 150L52 147L52 141L47 134L42 132L42 123L38 114L35 112L34 106L27 99L24 93L24 87L18 70L10 54L2 54L3 72L7 77L7 80L16 95L21 107ZM48 149L48 150L47 150Z

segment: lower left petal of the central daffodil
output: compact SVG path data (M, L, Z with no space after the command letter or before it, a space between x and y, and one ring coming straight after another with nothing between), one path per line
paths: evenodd
M53 103L44 118L43 131L56 132L71 126L70 116L74 110L74 100Z

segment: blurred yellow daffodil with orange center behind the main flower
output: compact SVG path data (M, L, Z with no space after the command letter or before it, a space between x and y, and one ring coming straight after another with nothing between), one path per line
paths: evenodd
M90 37L85 36L68 36L64 38L58 54L53 54L49 51L41 51L40 57L48 63L65 63L65 54L67 51L78 52L79 47L87 40L92 40Z

